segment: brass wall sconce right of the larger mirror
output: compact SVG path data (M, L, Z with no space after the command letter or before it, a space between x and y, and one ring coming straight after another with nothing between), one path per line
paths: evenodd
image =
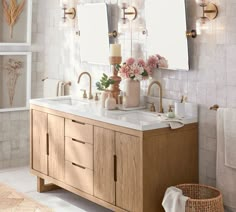
M202 7L202 16L196 21L197 34L209 29L209 23L218 15L218 8L209 0L196 0L196 3Z

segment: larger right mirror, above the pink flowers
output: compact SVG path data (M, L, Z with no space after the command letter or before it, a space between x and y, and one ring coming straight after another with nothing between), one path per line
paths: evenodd
M145 0L147 54L168 60L168 69L189 70L185 0Z

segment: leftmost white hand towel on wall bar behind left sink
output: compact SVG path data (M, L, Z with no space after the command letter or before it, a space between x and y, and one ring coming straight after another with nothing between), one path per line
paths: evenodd
M46 79L44 80L43 96L44 98L58 96L60 80Z

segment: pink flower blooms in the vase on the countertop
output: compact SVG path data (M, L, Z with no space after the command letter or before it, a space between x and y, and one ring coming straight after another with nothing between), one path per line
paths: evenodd
M152 75L153 69L160 67L168 67L167 60L160 55L152 55L147 59L147 61L144 61L143 59L135 60L131 57L128 58L121 66L116 66L122 78L130 78L138 81L147 79Z

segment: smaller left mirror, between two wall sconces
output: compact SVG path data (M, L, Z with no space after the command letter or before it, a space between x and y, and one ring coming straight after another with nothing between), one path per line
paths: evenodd
M81 62L109 64L109 27L107 5L78 5Z

